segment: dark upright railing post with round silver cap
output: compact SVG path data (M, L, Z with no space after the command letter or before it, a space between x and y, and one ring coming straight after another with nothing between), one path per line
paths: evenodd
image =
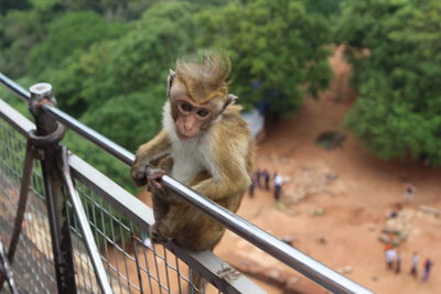
M41 164L58 293L76 293L66 196L63 193L61 164L57 162L57 154L61 152L58 142L63 138L64 127L42 108L45 104L56 104L52 86L46 83L36 84L30 88L30 110L36 124L36 132L31 141L34 146L43 150Z

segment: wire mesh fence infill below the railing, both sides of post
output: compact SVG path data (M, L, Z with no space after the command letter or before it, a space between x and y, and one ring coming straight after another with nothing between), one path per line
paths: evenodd
M0 119L0 240L9 244L17 214L26 139ZM77 175L78 173L76 173ZM85 175L83 175L85 176ZM127 219L103 198L103 189L74 176L95 241L114 293L186 293L192 283L189 265L161 244L152 244L146 229ZM66 202L76 290L100 293L72 203ZM18 288L22 293L55 293L53 251L43 178L34 161L23 230L13 260ZM220 293L206 285L193 293Z

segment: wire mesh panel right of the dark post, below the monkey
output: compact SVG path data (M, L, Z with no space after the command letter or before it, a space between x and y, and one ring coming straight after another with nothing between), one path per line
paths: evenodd
M115 293L185 293L189 288L189 269L163 246L150 243L148 233L125 219L93 189L79 181L76 188L89 220ZM71 204L67 204L71 228L83 239ZM97 292L92 263L83 242L74 243L78 291ZM82 270L79 270L82 269ZM83 271L83 272L80 272ZM214 287L194 293L218 293Z

